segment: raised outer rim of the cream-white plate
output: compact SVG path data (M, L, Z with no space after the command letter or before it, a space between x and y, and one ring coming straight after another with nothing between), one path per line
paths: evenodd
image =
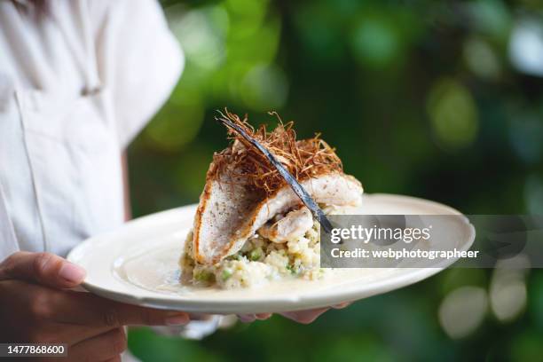
M430 201L426 199L422 199L419 197L413 197L408 195L401 195L401 194L392 194L392 193L365 193L364 197L376 197L376 198L384 198L384 199L392 199L394 201L410 201L410 202L416 202L416 203L422 203L425 205L431 205L434 208L442 209L444 212L446 212L445 215L459 215L464 216L459 210L454 209L448 205L442 204L437 201ZM364 203L364 199L363 199ZM75 246L75 248L72 248L70 252L67 255L67 260L77 264L77 261L79 260L77 255L81 254L84 250L84 248L89 248L89 245L91 245L92 242L95 242L95 240L103 239L107 236L114 235L115 233L120 232L123 228L134 225L134 224L153 224L153 220L155 219L161 219L164 217L164 215L169 213L179 213L182 212L183 209L196 209L197 204L189 204L185 206L181 206L178 208L173 209L166 209L163 211L159 211L153 214L149 214L146 216L140 216L135 219L132 219L119 227L115 228L112 231L109 232L103 232L98 233L97 235L92 236L89 239L83 240L81 243ZM433 215L439 215L439 214L433 214ZM476 231L473 224L469 222L469 219L467 216L463 217L463 221L468 225L469 227L469 240L465 243L464 248L468 249L472 246L473 241L475 240ZM244 306L243 311L240 311L239 305L240 301L236 301L235 299L228 299L228 300L221 300L220 302L213 303L212 301L206 300L205 302L194 299L176 299L174 295L161 295L161 296L146 296L146 295L130 295L124 292L119 292L115 290L111 290L110 288L106 287L100 287L99 285L93 284L91 282L88 282L86 279L81 284L81 287L86 289L87 291L99 295L102 297L105 297L107 299L111 299L117 302L122 303L130 303L134 305L144 306L144 307L150 307L155 309L167 309L167 310L178 310L178 311L188 311L188 312L203 312L203 313L213 313L213 314L230 314L230 313L257 313L257 312L265 312L265 311L273 311L273 312L281 312L281 311L299 311L308 309L307 304L311 302L311 300L317 299L319 302L313 301L311 304L312 308L321 308L328 306L333 303L339 303L340 301L350 301L350 300L357 300L357 295L364 295L363 297L370 297L374 295L380 295L383 293L390 292L392 290L395 290L400 287L408 287L410 285L413 285L415 283L420 282L423 279L428 279L429 277L437 274L439 271L444 271L446 268L448 268L450 265L454 264L457 260L453 259L450 261L446 261L442 266L438 267L432 267L432 268L407 268L410 269L412 272L405 273L405 274L397 274L392 277L390 282L383 283L382 280L374 280L369 283L364 284L362 287L356 287L356 288L350 288L345 291L342 291L341 289L334 293L333 295L311 295L309 293L308 295L305 295L303 297L296 297L291 299L271 299L267 301L266 303L262 303L261 299L254 299L249 298L244 300ZM379 268L379 269L390 269L395 270L397 268ZM405 268L403 268L405 269ZM112 278L114 278L112 276ZM406 280L405 280L406 279ZM145 290L145 289L144 289ZM151 292L151 291L147 291ZM198 304L205 303L207 306L213 305L213 308L205 308L201 307ZM265 307L264 307L265 304ZM262 308L261 308L262 307Z

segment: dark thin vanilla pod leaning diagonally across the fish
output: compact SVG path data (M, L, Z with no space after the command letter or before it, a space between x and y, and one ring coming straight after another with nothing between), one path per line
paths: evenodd
M219 112L220 114L220 112ZM311 210L311 214L313 217L319 221L319 223L322 225L322 228L325 232L328 234L332 232L332 229L334 229L334 226L330 224L330 221L327 219L327 216L325 213L319 208L319 205L317 205L317 202L315 202L309 193L305 191L302 185L298 183L298 181L295 179L294 176L288 172L288 170L282 165L281 162L279 162L273 153L268 151L266 147L262 146L255 138L252 138L248 135L248 133L243 130L239 125L235 124L234 122L228 120L226 117L224 117L223 114L221 114L221 118L215 117L215 119L218 122L221 122L226 126L227 128L236 131L240 134L241 137L247 139L247 141L256 147L258 151L264 154L264 156L270 161L271 165L278 170L281 177L285 179L288 185L292 188L292 190L295 192L295 194L300 198L300 200L307 206L308 209Z

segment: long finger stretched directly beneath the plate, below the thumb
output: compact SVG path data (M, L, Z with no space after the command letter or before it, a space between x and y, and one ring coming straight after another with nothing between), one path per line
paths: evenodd
M184 311L163 311L106 300L90 293L65 291L51 301L52 319L73 325L114 328L122 326L181 326L190 321Z

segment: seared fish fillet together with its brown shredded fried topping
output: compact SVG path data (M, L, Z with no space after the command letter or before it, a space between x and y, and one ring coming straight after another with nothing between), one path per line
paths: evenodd
M360 203L362 186L343 173L342 161L319 134L296 140L294 122L283 124L275 113L279 125L272 131L264 125L255 130L247 116L242 120L228 110L219 114L217 120L227 125L232 144L213 156L201 193L193 228L193 257L198 263L216 264L235 254L273 216L303 207L285 172L279 172L262 148L295 177L312 201L340 207ZM299 232L302 214L288 216L276 230L264 227L263 232L271 232L276 240L292 236Z

